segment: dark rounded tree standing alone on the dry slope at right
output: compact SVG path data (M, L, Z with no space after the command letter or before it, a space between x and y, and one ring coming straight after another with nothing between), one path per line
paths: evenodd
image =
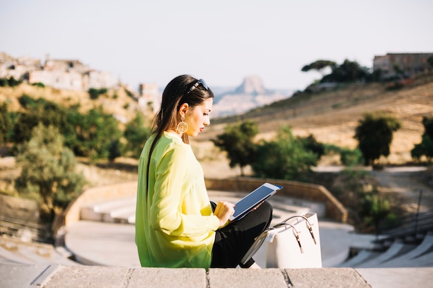
M382 113L365 113L359 121L354 138L358 140L358 148L362 152L366 165L375 165L380 156L389 155L389 146L393 133L401 124L395 117Z

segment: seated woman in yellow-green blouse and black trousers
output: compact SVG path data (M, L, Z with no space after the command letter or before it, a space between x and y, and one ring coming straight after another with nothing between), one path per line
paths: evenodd
M237 222L230 202L210 202L203 169L188 137L210 124L214 95L203 79L178 76L167 84L152 134L140 155L136 244L142 267L257 267L241 258L268 228L267 202Z

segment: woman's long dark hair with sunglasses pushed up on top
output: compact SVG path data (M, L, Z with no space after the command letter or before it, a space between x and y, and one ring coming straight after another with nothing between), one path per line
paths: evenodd
M210 88L203 85L195 85L198 79L190 75L180 75L172 81L164 89L163 99L158 113L156 113L152 122L151 133L155 134L154 142L152 142L149 150L149 158L147 160L147 177L149 177L150 156L154 151L156 142L167 129L176 129L179 122L178 111L182 104L187 103L191 108L199 106L205 100L214 98L214 93ZM194 86L195 85L195 86ZM192 89L192 86L194 88ZM183 133L182 140L189 143L188 135Z

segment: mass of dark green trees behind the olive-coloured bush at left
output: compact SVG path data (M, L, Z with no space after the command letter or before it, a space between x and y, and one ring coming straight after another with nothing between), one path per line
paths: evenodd
M78 111L80 105L65 109L55 102L43 98L34 99L26 94L19 97L19 103L22 107L19 113L8 113L7 104L0 105L0 145L15 144L16 152L19 145L30 140L33 128L43 124L57 128L64 135L65 145L75 155L89 157L92 164L105 158L113 161L121 155L122 131L118 128L117 120L104 113L102 108L94 108L82 114ZM147 139L148 134L145 131L138 137ZM131 139L133 136L129 137ZM138 146L136 149L141 149L142 142Z

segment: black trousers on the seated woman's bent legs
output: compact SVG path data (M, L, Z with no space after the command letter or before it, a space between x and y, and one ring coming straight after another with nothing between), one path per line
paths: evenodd
M211 204L214 210L216 204L213 202ZM254 243L255 238L269 227L272 212L272 205L265 201L241 220L216 230L210 267L235 268L239 265L242 268L248 268L254 264L252 258L245 265L240 262Z

